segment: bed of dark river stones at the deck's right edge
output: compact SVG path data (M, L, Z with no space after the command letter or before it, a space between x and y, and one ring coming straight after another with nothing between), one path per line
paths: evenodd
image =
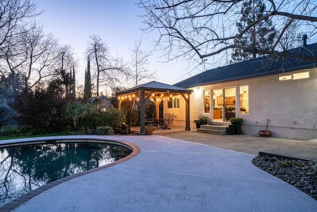
M314 170L314 161L258 156L252 163L317 200L317 168Z

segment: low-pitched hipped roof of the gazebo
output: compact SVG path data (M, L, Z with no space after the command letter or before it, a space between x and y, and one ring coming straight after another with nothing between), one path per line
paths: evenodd
M128 88L116 93L116 95L125 95L129 93L136 93L140 91L155 91L155 92L163 92L163 93L188 93L190 94L193 90L187 88L176 87L173 85L151 81L144 83L142 85L138 85L132 88Z

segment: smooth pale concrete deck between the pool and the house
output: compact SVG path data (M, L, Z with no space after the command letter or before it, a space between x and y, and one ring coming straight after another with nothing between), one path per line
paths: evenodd
M252 164L256 152L264 150L317 158L316 140L165 132L164 136L66 137L127 141L141 151L122 163L46 190L14 211L316 211L316 200Z

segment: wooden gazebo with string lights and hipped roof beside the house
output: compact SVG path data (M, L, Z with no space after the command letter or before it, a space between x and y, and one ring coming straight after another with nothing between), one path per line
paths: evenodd
M121 103L125 99L137 98L140 100L140 122L141 122L141 135L145 135L145 101L150 99L156 108L156 119L159 119L159 104L164 99L164 97L170 97L173 95L181 95L186 102L185 107L185 131L190 130L190 120L189 120L189 94L192 93L192 90L176 87L173 85L164 84L157 81L147 82L142 85L138 85L126 90L122 90L116 93L116 96L119 99L119 109L121 109Z

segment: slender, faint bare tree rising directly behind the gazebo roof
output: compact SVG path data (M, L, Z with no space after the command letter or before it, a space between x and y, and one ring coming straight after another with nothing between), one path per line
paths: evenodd
M156 76L156 71L150 71L148 65L149 57L152 53L147 53L141 49L142 38L134 42L134 48L131 56L131 77L135 81L135 86L146 79L152 79Z

